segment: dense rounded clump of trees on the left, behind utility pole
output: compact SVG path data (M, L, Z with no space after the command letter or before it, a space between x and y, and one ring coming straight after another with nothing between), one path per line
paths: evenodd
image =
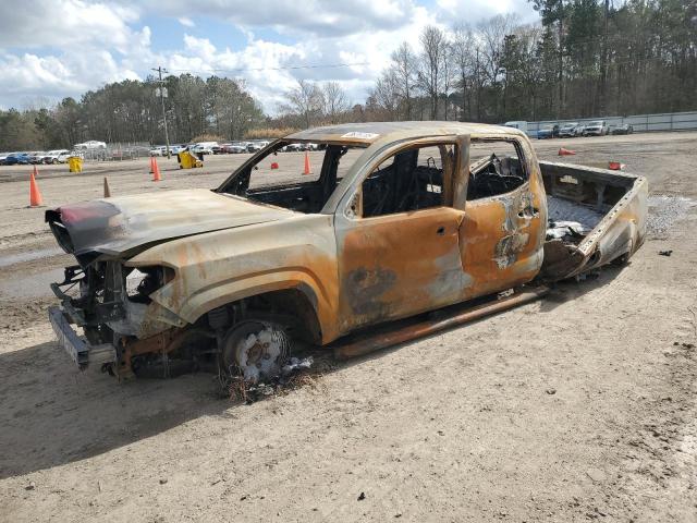
M260 126L266 117L244 83L191 74L107 84L47 109L0 111L0 150L50 149L97 139L164 144L162 93L170 143L204 134L234 139Z

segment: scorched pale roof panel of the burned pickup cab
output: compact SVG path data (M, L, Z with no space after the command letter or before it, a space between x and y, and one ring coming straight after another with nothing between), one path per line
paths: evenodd
M452 134L476 135L482 133L522 134L521 131L513 127L490 125L487 123L423 121L341 123L338 125L307 129L289 134L285 138L292 141L340 142L370 145L391 134L399 135L400 138L416 138L419 136L445 136Z

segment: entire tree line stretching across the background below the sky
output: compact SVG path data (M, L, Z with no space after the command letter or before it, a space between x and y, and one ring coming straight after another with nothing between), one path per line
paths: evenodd
M540 23L498 15L427 26L398 45L363 104L337 82L298 81L274 117L243 81L168 76L171 143L201 134L276 135L346 121L575 119L697 109L697 0L528 0ZM84 139L164 142L155 78L65 98L52 109L0 111L0 149Z

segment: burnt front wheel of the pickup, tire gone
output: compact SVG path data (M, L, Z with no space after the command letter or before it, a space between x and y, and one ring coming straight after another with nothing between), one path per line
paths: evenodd
M290 346L281 325L255 319L241 321L225 335L222 364L225 372L234 374L236 367L245 381L257 382L279 375Z

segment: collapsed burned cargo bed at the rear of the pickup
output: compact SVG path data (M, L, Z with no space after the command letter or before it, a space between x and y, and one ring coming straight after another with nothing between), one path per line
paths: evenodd
M570 278L624 263L644 243L648 184L620 171L540 161L548 202L541 277Z

